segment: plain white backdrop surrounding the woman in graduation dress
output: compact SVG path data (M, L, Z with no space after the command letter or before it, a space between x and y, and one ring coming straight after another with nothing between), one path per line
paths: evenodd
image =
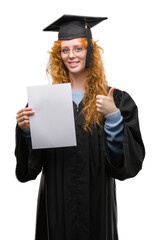
M34 239L39 179L15 177L16 112L27 102L26 87L47 84L48 51L56 33L42 29L63 14L107 16L92 30L104 49L111 86L127 91L139 106L146 146L143 170L117 181L120 240L160 239L158 0L5 0L0 6L0 239Z

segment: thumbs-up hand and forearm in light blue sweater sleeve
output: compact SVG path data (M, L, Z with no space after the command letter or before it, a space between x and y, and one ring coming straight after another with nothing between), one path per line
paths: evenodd
M106 118L104 131L107 137L109 156L115 167L123 164L123 117L113 98L114 88L109 90L108 96L97 95L97 111Z

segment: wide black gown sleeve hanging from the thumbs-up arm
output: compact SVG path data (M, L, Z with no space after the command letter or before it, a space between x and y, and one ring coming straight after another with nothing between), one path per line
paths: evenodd
M128 93L116 89L114 91L114 101L123 116L124 159L122 167L116 168L108 156L107 168L112 177L125 180L136 176L141 170L145 156L145 148L139 127L138 108L134 100ZM106 153L107 151L106 149Z

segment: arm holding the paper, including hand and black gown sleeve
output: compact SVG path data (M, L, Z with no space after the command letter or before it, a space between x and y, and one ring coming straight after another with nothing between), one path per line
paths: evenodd
M24 108L17 113L16 176L21 182L35 179L42 170L42 151L33 150L31 144L27 144L26 137L24 137L24 131L29 127L30 114L33 114L33 111L29 108ZM28 140L30 141L30 137Z

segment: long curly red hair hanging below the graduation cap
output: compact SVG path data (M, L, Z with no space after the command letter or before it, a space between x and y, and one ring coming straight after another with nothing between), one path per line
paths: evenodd
M81 38L81 44L87 48L87 39ZM61 40L55 41L52 51L49 52L50 58L47 66L47 73L52 77L53 84L69 83L69 73L60 56ZM84 130L91 131L98 124L102 126L104 116L97 112L96 95L108 95L108 83L104 73L101 52L103 49L92 40L93 53L91 64L87 69L85 84L85 95L83 98L83 114L85 114Z

